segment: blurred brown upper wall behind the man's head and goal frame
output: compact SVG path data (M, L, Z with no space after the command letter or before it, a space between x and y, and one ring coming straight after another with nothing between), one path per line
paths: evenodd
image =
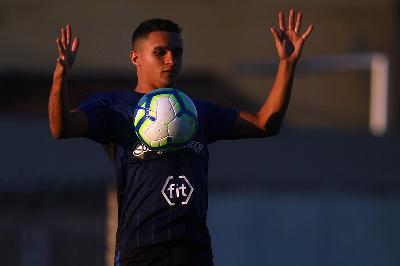
M0 70L45 72L50 78L58 57L55 40L61 28L71 24L73 35L81 38L71 73L134 75L129 58L133 30L144 19L169 18L184 28L182 76L193 72L218 76L252 103L243 108L256 110L272 86L274 73L246 76L232 72L231 66L277 59L269 29L278 27L277 14L283 11L287 17L290 8L303 12L302 32L309 24L315 25L303 57L375 51L389 56L391 121L396 124L399 7L395 0L69 0L63 4L4 0L0 3ZM364 130L368 97L367 71L297 74L287 123L300 128Z

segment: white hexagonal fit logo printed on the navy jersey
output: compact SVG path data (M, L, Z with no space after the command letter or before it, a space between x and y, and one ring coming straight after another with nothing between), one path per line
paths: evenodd
M185 176L179 176L179 178L169 176L167 181L165 181L161 193L170 206L175 206L177 203L181 203L182 205L187 204L193 190L192 185Z

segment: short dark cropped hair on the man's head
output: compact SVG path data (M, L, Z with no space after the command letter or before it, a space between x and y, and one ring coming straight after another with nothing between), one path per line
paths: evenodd
M176 32L180 35L182 32L182 28L179 27L178 24L168 19L152 18L145 20L140 23L135 32L133 32L132 50L135 49L135 43L138 39L141 39L145 36L147 37L153 31L171 31Z

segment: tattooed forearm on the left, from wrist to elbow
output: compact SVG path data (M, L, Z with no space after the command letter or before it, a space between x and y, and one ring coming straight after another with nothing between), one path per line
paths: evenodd
M71 124L71 113L68 105L67 78L53 77L53 86L49 98L49 121L53 137L63 138Z

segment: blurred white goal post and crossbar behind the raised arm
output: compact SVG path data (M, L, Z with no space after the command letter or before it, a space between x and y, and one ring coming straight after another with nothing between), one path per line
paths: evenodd
M276 60L236 63L235 73L270 75ZM382 136L388 128L389 58L381 52L303 56L296 67L301 72L370 71L369 130Z

